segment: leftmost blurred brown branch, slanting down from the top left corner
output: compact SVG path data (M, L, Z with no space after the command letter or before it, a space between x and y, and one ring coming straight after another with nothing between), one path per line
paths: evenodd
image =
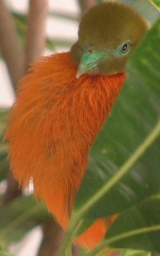
M10 78L15 89L19 79L25 74L25 56L18 43L18 34L12 14L7 10L2 0L0 1L0 35L2 55L6 60Z

